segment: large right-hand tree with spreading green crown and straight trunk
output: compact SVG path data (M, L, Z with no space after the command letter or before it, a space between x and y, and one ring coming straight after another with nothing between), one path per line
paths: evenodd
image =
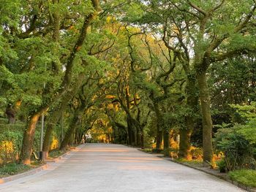
M191 77L190 82L195 85L197 80L203 118L203 159L209 163L213 153L212 120L206 72L214 62L255 50L251 42L255 38L251 27L255 2L150 1L147 8L149 13L152 9L159 11L151 14L150 22L154 22L152 18L161 21L165 45L186 64L184 70ZM232 17L228 17L227 12L232 12ZM161 13L165 17L159 15ZM186 69L188 64L190 72Z

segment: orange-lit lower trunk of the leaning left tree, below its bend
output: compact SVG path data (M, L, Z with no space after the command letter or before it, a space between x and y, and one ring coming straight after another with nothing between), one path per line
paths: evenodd
M34 131L36 130L37 121L40 117L40 113L35 113L31 115L26 126L26 130L23 135L23 145L20 153L20 163L30 164L30 157L32 153L32 147L34 143Z

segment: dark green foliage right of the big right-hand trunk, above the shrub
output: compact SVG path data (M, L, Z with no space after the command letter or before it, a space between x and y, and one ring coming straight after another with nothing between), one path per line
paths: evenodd
M238 122L236 112L229 104L255 101L255 67L253 55L230 58L210 66L208 85L213 110L233 116L233 121Z

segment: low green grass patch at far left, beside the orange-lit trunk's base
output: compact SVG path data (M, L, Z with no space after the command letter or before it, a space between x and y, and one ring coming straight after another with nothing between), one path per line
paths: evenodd
M5 164L0 167L0 177L8 177L13 174L18 174L22 172L26 172L31 169L32 166L23 165L23 164Z

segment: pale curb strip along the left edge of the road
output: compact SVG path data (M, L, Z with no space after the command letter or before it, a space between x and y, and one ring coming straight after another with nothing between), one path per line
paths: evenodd
M28 172L23 172L23 173L20 173L20 174L15 174L15 175L12 175L12 176L9 176L9 177L3 177L3 178L0 178L0 185L1 184L4 184L4 183L7 183L7 182L10 182L12 180L18 180L22 177L26 177L26 176L29 176L31 174L36 174L37 172L41 172L42 170L44 169L47 169L48 168L48 162L56 162L56 161L59 161L61 160L62 158L65 158L70 151L72 150L75 150L75 149L78 149L80 148L80 145L78 145L77 147L73 147L71 150L67 151L67 153L64 153L63 155L60 155L59 157L57 158L53 158L52 161L45 161L46 164L42 165L42 166L39 166L35 169L31 169L29 170Z

